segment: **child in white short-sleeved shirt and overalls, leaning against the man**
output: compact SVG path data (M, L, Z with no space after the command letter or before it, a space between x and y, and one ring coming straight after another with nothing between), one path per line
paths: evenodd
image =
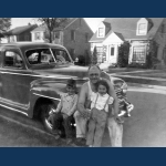
M91 96L91 117L89 120L89 131L86 145L100 147L106 125L108 111L112 108L113 97L108 95L108 84L100 80L96 85L97 93Z

